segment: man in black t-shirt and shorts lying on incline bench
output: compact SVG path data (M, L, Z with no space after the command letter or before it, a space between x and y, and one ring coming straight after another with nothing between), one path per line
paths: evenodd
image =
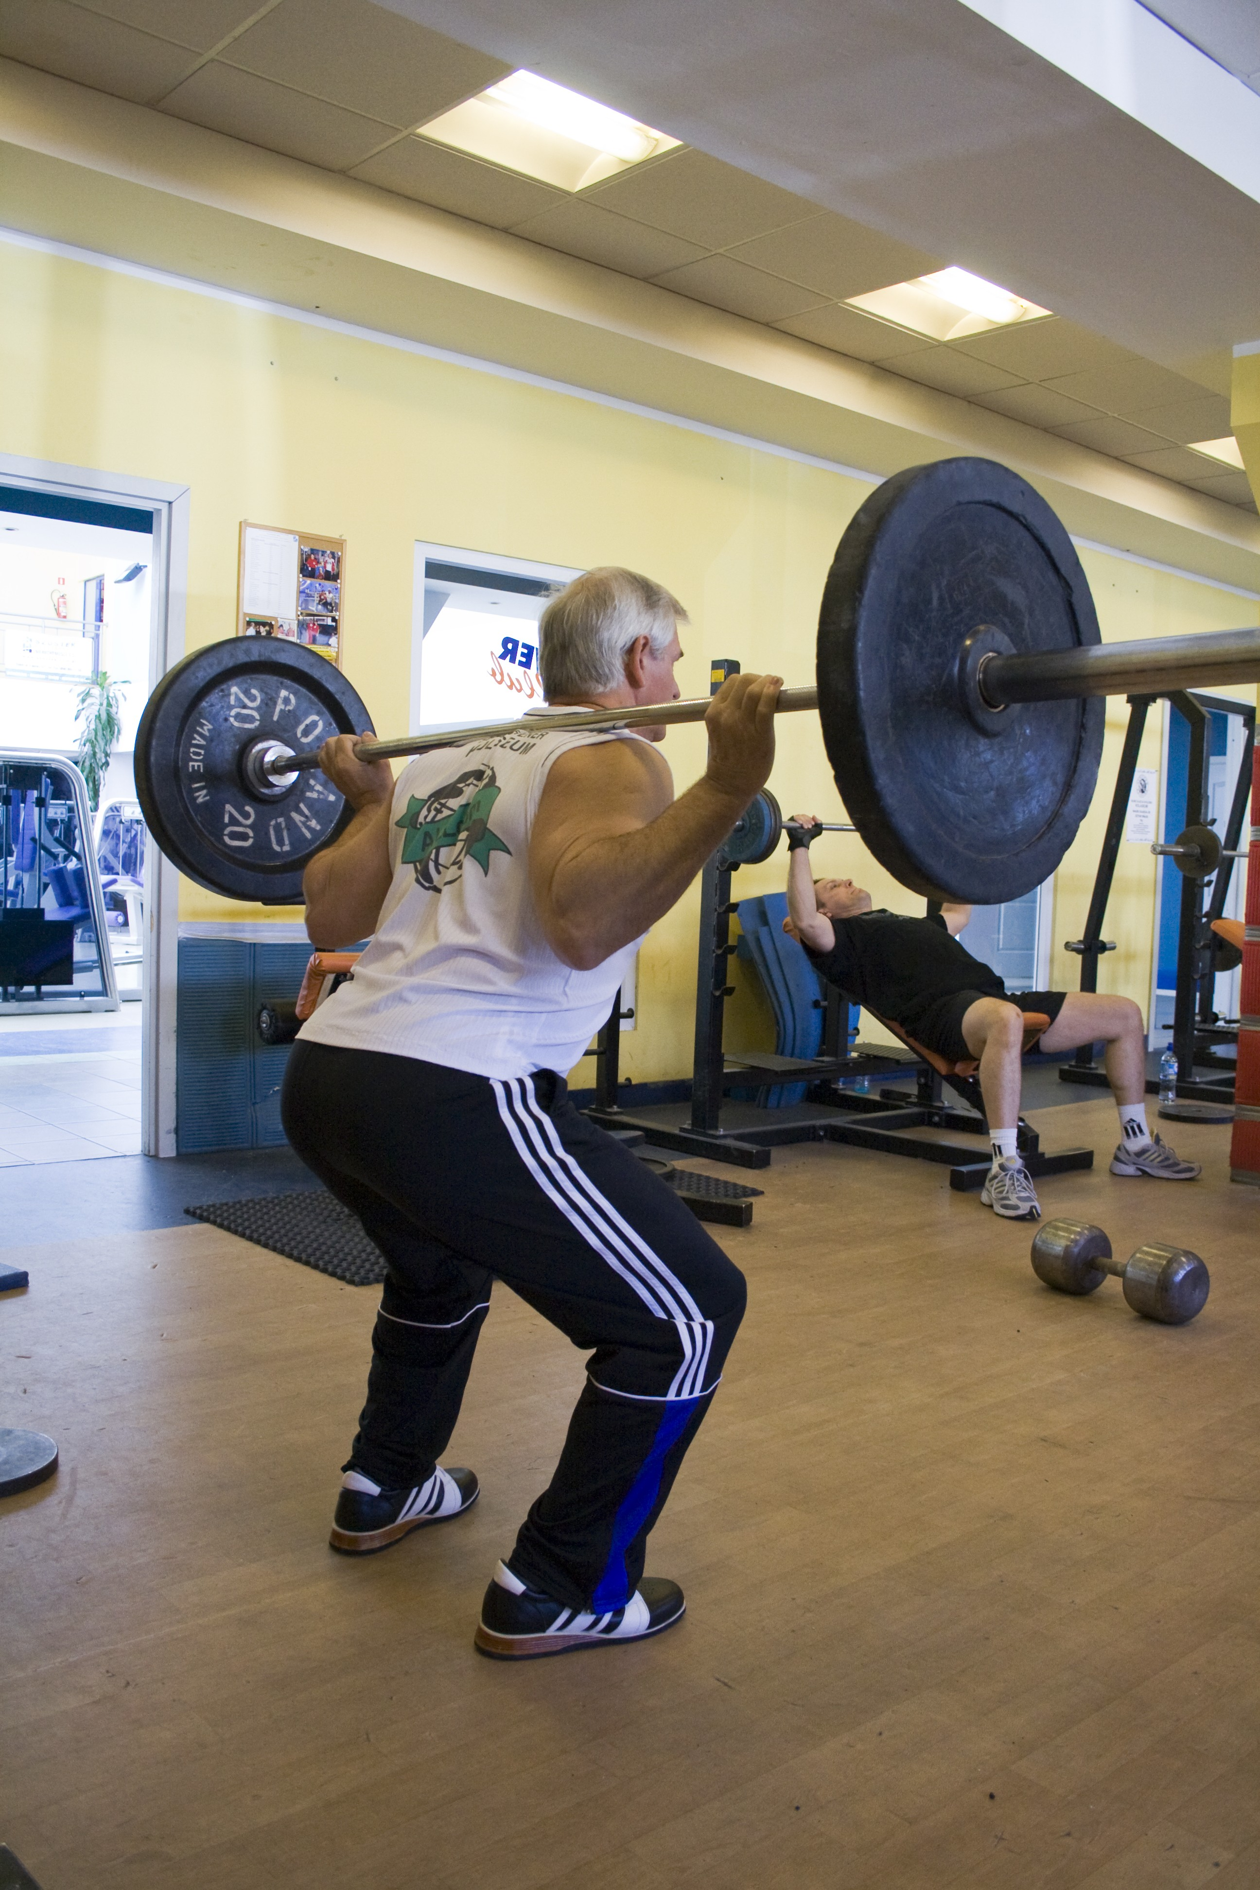
M1107 1081L1120 1111L1113 1176L1194 1181L1183 1162L1147 1128L1147 1038L1132 998L1084 990L1007 992L997 973L958 943L969 905L946 905L931 919L873 911L871 894L852 879L812 879L809 847L816 815L793 815L788 830L788 913L784 932L799 939L831 985L907 1038L950 1062L977 1058L980 1094L994 1142L994 1166L980 1200L1009 1221L1037 1221L1041 1204L1016 1149L1024 1013L1050 1019L1039 1047L1075 1051L1107 1045Z

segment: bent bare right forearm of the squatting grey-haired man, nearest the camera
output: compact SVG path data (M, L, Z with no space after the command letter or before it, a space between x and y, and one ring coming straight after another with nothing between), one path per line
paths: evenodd
M561 958L591 970L656 924L742 811L703 777L646 826L569 849L550 886L552 945Z

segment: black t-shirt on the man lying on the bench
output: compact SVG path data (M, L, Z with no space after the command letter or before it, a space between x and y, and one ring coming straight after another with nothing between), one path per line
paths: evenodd
M992 966L973 958L965 945L950 937L941 913L931 919L903 919L899 913L858 913L833 919L835 951L805 947L814 966L831 985L846 990L880 1017L890 1017L914 1036L914 1021L941 998L975 990L982 998L1005 998L1007 987Z

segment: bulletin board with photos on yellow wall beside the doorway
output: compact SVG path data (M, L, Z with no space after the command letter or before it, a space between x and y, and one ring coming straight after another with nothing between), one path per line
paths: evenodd
M342 667L346 539L240 522L236 635L285 637Z

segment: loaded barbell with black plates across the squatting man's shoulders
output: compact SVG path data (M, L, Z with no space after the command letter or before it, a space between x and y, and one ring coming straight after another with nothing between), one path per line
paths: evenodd
M1067 531L992 459L939 459L878 486L846 527L822 597L816 709L867 849L928 898L1001 905L1039 886L1084 816L1105 696L1260 677L1260 631L1103 644ZM542 730L701 722L710 697L540 711L521 722L361 741L363 762ZM149 697L136 792L153 839L227 898L300 903L310 858L351 809L319 775L329 735L368 713L340 671L278 639L195 650Z

